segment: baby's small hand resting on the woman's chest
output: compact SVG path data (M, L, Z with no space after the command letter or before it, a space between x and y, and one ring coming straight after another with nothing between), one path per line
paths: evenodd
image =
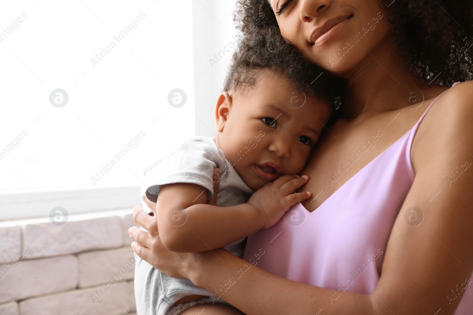
M307 175L281 176L279 179L266 184L256 191L248 200L261 214L264 220L263 229L268 229L276 224L289 208L310 197L310 192L291 194L296 188L307 183Z

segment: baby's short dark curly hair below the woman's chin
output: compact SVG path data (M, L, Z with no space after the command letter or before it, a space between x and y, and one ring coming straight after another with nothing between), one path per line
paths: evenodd
M341 80L329 76L286 42L278 27L256 30L240 38L225 79L224 91L252 88L259 76L268 73L268 70L280 71L299 91L337 107L335 100L341 90Z

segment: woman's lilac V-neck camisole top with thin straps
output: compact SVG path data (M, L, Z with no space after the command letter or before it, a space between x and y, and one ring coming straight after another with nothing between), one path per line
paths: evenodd
M373 291L394 220L414 179L412 140L432 104L412 129L315 211L295 204L274 226L249 236L243 259L280 277L333 289L327 296L332 302L337 292ZM466 314L473 314L470 286L455 312Z

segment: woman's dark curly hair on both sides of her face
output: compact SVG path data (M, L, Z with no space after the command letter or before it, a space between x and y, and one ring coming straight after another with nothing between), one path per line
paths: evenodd
M404 69L419 79L452 85L473 79L472 0L381 0L394 26ZM243 34L278 26L268 0L239 0L234 20Z

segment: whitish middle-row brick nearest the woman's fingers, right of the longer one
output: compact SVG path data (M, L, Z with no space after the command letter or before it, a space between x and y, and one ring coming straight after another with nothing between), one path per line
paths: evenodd
M131 246L82 253L77 259L80 288L108 283L111 278L116 281L130 280L135 275L135 258Z

